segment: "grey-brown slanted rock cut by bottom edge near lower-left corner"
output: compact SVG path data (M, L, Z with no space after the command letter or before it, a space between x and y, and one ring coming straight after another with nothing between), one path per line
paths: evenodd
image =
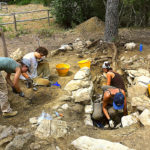
M28 150L27 145L33 142L34 136L31 133L17 135L12 142L10 142L5 150Z

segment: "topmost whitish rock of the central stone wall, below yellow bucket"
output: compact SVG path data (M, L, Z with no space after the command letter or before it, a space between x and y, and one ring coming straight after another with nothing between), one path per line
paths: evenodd
M88 67L81 68L74 76L74 80L89 80L90 69Z

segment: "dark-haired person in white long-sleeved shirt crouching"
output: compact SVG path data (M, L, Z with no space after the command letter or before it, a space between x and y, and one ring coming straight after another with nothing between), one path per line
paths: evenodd
M39 47L35 52L26 54L22 62L29 66L29 72L23 73L20 78L27 80L27 87L30 88L32 80L42 75L42 78L49 79L50 70L49 64L43 62L43 59L48 55L48 50L44 47Z

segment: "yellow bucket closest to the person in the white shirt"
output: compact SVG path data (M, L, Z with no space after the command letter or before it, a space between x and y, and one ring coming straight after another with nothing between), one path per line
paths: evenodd
M70 65L69 64L57 64L56 70L59 76L66 76L68 74Z

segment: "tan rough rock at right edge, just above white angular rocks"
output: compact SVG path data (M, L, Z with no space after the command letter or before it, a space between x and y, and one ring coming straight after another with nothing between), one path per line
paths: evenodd
M143 111L144 109L150 110L150 99L146 96L133 97L131 106L140 111Z

